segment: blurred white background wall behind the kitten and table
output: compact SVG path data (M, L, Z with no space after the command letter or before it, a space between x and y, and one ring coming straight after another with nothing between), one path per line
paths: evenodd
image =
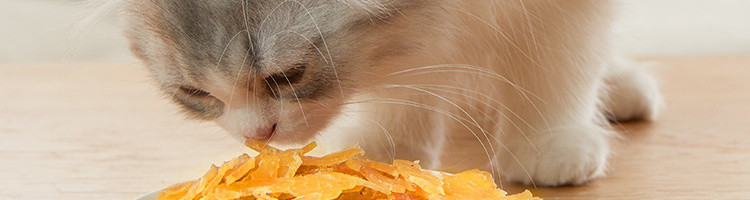
M132 62L116 19L76 24L76 0L0 0L0 63ZM615 42L630 55L750 54L750 0L623 0Z

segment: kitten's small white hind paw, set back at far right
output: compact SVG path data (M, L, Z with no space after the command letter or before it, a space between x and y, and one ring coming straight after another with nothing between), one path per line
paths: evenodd
M603 93L604 113L612 121L652 120L663 105L651 74L624 59L610 61Z

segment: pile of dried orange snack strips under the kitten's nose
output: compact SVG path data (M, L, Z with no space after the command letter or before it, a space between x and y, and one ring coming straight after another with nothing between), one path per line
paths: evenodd
M159 199L539 199L529 191L506 196L480 170L449 175L422 170L418 162L389 165L358 158L359 148L305 156L315 143L287 151L246 145L259 155L212 165L200 179L164 189Z

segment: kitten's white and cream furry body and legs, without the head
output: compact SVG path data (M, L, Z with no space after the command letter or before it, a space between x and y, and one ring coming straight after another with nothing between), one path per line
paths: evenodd
M603 175L611 131L600 105L618 119L651 117L655 82L629 65L609 66L608 2L518 2L441 3L440 37L415 36L428 45L378 66L388 69L374 83L384 87L356 98L366 103L344 111L346 120L323 140L348 135L341 142L374 158L420 159L449 171L480 167L527 184Z

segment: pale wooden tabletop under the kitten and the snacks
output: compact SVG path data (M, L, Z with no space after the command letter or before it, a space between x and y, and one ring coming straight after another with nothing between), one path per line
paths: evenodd
M623 137L606 178L532 191L546 199L750 198L750 56L643 60L661 63L663 115L617 125ZM214 125L178 114L138 65L0 65L0 199L133 199L244 150Z

